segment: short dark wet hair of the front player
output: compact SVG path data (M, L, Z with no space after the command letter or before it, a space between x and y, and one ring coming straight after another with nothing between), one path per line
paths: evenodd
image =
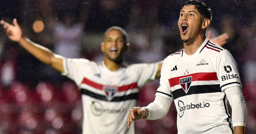
M205 18L205 19L209 19L210 21L212 21L212 10L206 5L204 4L202 1L200 0L189 0L187 2L185 2L181 8L183 8L184 6L190 6L190 5L194 5L195 9Z

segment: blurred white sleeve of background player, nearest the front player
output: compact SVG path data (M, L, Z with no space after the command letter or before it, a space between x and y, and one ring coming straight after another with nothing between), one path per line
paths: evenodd
M136 70L138 75L138 86L142 87L148 81L155 80L157 73L158 63L151 64L137 64Z

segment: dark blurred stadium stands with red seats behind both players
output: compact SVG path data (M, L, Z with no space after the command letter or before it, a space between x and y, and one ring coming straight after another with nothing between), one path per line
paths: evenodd
M153 63L182 48L177 22L184 0L12 0L0 2L1 18L17 18L32 41L70 58L100 61L100 42L121 26L131 49L126 63ZM224 48L234 56L246 100L246 133L256 133L256 32L253 0L205 0L213 10L207 31L228 33ZM37 21L36 21L37 20ZM42 21L43 23L41 23ZM42 31L43 30L43 31ZM0 28L0 133L79 133L81 96L68 78L39 62ZM138 106L154 100L159 80L148 83ZM229 108L230 109L230 108ZM86 109L84 109L86 110ZM138 134L177 133L174 103L163 119L136 122Z

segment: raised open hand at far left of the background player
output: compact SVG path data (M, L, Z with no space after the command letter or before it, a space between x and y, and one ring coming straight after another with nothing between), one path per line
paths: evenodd
M4 20L1 20L0 22L5 32L8 35L8 38L12 41L20 41L22 38L22 31L20 29L20 26L18 25L17 19L13 19L13 25L5 22Z

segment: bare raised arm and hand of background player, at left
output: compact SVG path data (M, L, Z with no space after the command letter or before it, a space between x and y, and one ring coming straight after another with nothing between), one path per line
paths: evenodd
M25 48L29 53L43 63L51 65L60 72L64 72L63 58L54 54L51 50L30 41L26 37L23 37L16 19L13 19L13 25L4 22L4 20L1 20L1 24L3 25L10 40L18 42L21 47Z

